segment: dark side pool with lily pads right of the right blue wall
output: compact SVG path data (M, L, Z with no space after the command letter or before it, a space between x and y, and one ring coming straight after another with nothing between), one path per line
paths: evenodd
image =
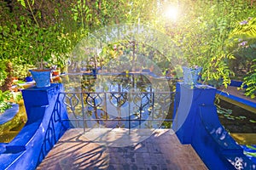
M222 99L216 102L218 117L251 160L256 162L256 114Z

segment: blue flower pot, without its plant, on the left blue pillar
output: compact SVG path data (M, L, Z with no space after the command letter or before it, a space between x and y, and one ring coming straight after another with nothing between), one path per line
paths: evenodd
M45 88L50 86L51 70L30 70L37 88Z

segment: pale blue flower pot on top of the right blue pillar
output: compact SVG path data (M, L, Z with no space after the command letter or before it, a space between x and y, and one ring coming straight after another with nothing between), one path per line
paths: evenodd
M189 85L197 84L198 77L201 73L202 68L196 69L183 66L183 82Z

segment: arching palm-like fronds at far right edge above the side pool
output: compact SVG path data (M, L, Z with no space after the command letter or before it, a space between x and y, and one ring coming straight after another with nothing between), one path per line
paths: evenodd
M241 88L245 89L246 95L255 98L256 93L256 18L249 17L242 20L230 34L230 48L236 56L236 69L243 65L247 75L243 78Z

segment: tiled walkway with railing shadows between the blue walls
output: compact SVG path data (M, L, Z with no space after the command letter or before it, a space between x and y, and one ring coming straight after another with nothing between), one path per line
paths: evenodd
M189 144L179 143L172 130L136 129L129 135L124 128L96 128L84 135L82 129L75 128L68 130L50 150L38 166L38 170L42 169L203 170L207 167Z

